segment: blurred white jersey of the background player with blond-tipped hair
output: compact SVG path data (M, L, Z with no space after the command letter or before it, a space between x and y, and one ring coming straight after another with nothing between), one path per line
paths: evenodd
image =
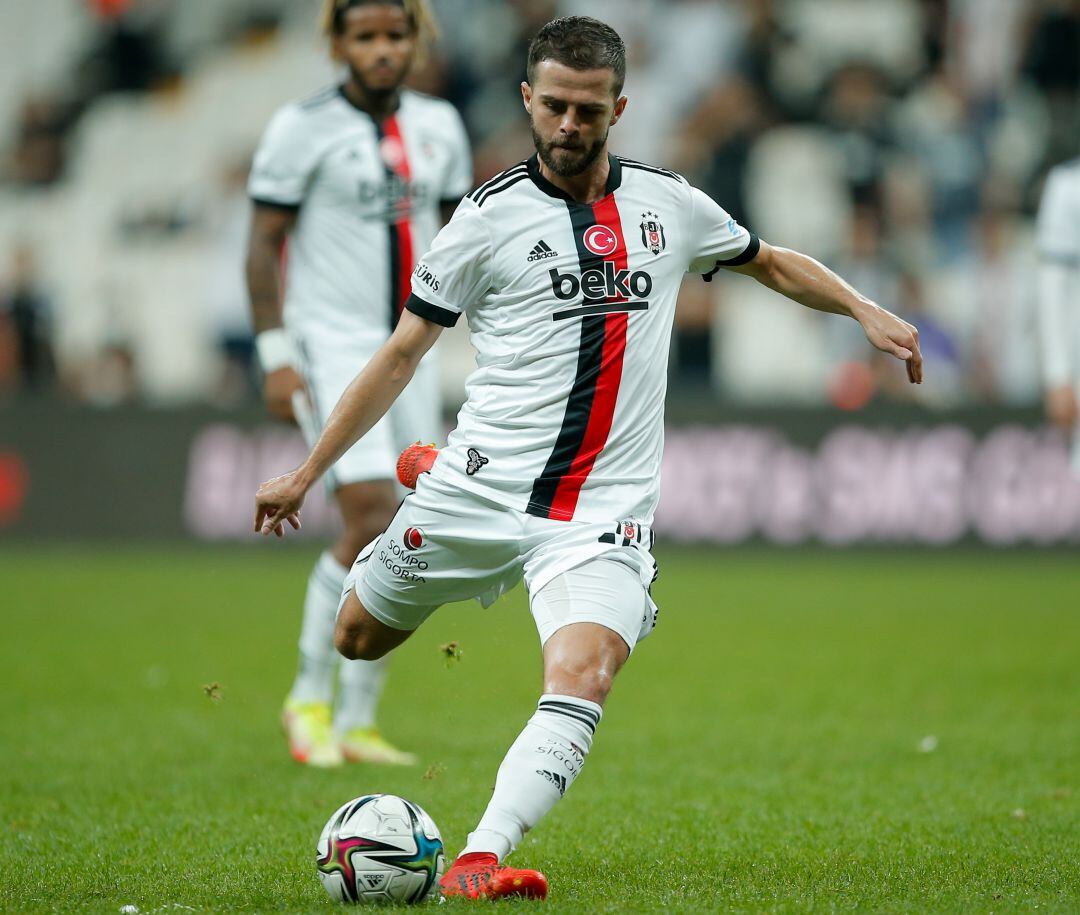
M403 92L397 111L376 123L330 86L279 110L247 189L256 203L297 211L285 326L315 346L378 348L438 230L440 204L471 186L464 126L443 99Z

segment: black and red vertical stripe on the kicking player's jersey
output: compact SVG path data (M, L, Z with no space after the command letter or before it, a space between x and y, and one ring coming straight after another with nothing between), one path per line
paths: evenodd
M609 193L593 204L567 200L567 206L582 274L590 270L603 271L606 260L617 271L627 269L626 240L615 196ZM593 253L585 244L585 233L594 226L610 229L617 240L615 248L605 256ZM543 472L534 482L526 508L529 514L556 521L573 517L581 488L611 431L622 381L627 320L626 312L589 314L581 319L573 387L555 447Z

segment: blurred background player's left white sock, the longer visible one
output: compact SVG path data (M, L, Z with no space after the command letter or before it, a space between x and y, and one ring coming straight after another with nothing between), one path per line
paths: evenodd
M311 570L300 627L300 665L289 692L297 702L329 702L334 697L334 672L341 660L334 648L334 624L348 574L329 552Z

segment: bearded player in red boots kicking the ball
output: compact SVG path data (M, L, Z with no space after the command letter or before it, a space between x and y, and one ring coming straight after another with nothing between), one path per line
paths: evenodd
M608 154L624 76L609 26L573 16L540 30L522 85L536 156L461 202L417 265L394 335L307 460L256 497L256 530L299 526L305 493L467 317L477 367L458 427L354 565L335 635L347 657L379 658L441 604L487 604L525 578L543 691L443 877L446 896L546 893L542 874L502 862L580 773L612 679L656 622L650 525L684 273L734 270L854 318L922 379L912 325L760 241L675 173Z

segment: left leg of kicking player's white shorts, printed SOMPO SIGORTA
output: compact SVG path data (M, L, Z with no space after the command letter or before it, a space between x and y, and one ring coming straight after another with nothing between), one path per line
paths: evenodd
M405 631L443 604L487 605L521 579L516 523L513 512L426 474L356 557L347 589L373 617Z

